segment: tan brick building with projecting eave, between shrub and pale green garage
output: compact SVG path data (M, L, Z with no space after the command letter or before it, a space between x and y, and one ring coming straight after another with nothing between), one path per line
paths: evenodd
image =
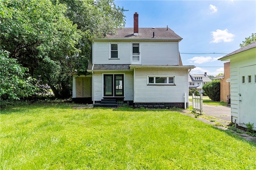
M224 63L224 74L212 79L220 80L220 101L230 106L230 62Z

